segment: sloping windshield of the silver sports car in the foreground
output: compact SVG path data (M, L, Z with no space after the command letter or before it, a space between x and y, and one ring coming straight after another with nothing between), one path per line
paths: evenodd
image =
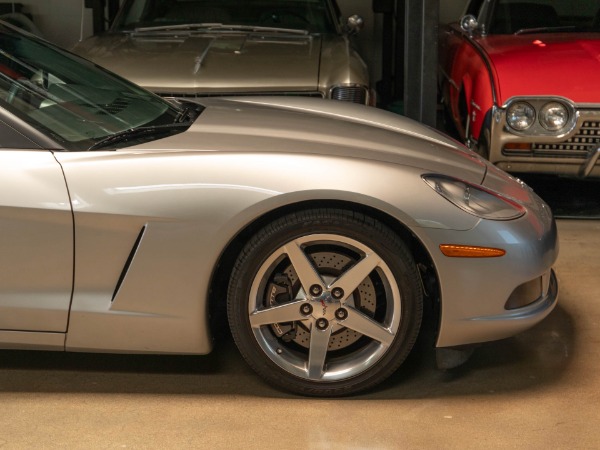
M3 24L0 105L67 149L138 127L164 128L182 116L154 94Z

